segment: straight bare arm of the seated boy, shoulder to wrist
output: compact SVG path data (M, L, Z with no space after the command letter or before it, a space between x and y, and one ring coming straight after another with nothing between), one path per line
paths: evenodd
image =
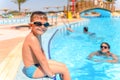
M52 77L54 74L51 71L49 65L48 65L48 61L47 58L41 48L41 45L38 41L37 38L32 38L31 39L31 43L30 43L30 47L34 53L34 55L36 56L37 60L39 61L43 71L49 76Z

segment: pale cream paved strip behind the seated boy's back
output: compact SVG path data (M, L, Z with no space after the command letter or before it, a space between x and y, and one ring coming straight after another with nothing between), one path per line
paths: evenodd
M0 80L13 80L21 62L22 44L20 42L0 64Z

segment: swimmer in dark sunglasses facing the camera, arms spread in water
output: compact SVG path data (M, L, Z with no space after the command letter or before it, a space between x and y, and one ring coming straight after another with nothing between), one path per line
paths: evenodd
M96 52L91 53L88 56L89 60L93 60L93 56L105 56L107 58L111 57L111 60L94 60L96 62L110 62L110 63L116 63L118 62L118 57L110 52L110 45L107 42L102 42L100 45L101 50L98 50Z

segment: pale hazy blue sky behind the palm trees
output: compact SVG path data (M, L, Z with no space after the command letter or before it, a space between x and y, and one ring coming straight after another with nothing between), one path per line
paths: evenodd
M35 10L44 10L44 7L51 6L51 10L56 10L56 6L65 6L67 0L28 0L27 2L21 5L22 10L25 8L30 9L31 11ZM116 8L120 10L120 0L116 1ZM8 8L10 10L18 10L17 4L13 3L12 0L0 0L0 13L3 8ZM62 8L61 8L62 9Z

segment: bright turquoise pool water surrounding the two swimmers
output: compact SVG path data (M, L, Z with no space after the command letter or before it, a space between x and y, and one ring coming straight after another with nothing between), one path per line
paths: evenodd
M84 26L72 27L73 33L59 32L51 44L51 57L65 63L72 80L119 80L120 64L93 62L87 56L100 49L102 42L108 42L111 52L120 56L120 18L96 17L88 18L85 25L89 32L95 33L90 37L83 33Z

